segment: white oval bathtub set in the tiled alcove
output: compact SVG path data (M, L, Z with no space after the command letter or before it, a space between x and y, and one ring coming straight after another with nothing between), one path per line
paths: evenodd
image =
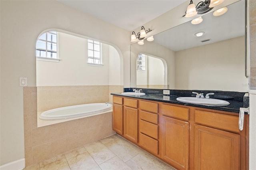
M85 117L92 115L99 115L101 113L112 111L112 103L90 103L84 105L75 105L68 107L60 107L51 109L40 114L41 120L62 120L77 117Z

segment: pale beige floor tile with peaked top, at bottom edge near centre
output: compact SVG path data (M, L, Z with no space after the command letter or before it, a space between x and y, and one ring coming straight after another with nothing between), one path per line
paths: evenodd
M117 156L100 164L99 166L102 170L132 170Z

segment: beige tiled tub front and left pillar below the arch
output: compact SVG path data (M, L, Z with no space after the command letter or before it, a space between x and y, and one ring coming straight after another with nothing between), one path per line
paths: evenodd
M37 128L36 108L36 87L24 87L26 167L114 134L112 113Z

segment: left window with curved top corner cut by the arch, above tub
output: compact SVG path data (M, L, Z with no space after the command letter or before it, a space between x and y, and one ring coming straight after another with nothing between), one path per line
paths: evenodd
M57 55L57 32L46 32L36 41L36 57L58 59Z

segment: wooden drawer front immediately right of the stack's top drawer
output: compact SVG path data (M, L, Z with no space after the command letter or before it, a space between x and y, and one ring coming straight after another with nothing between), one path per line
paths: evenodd
M171 105L162 105L162 115L188 121L189 109Z

